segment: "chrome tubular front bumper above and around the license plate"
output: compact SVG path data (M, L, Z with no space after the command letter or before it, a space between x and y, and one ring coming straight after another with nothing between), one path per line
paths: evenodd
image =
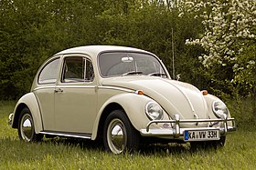
M232 125L228 125L231 122ZM151 129L150 126L153 124L172 124L172 128L159 128ZM208 127L192 127L192 128L181 128L180 124L191 124L191 123L210 123ZM218 125L218 126L217 126ZM227 115L221 116L219 119L185 119L180 120L179 115L175 115L173 120L153 120L150 121L145 129L141 129L140 133L143 136L155 136L155 137L167 137L170 139L179 139L188 141L186 133L188 131L201 131L201 132L218 132L219 136L225 136L229 132L236 131L235 119L227 118ZM200 140L200 139L198 139ZM208 139L207 139L208 140ZM210 139L209 139L210 140ZM216 140L216 139L214 139ZM197 141L197 139L196 139Z

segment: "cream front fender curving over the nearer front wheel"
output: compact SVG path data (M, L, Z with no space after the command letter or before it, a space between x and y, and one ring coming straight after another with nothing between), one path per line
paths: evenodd
M145 95L136 95L132 93L112 96L100 108L93 125L91 139L94 140L97 137L97 132L99 130L98 127L104 109L113 103L123 107L124 112L135 129L139 131L140 129L144 128L150 121L144 113L144 106L149 101L152 101L152 99Z

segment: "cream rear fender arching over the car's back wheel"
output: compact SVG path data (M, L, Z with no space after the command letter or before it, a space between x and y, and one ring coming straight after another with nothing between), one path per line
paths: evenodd
M37 103L37 97L33 93L23 95L16 103L12 127L18 127L19 115L24 107L27 107L30 110L35 125L35 132L38 134L43 130L43 125L39 105Z

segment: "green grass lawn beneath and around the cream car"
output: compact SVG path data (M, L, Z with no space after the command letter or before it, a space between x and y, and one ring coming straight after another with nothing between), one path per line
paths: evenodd
M256 132L242 127L224 148L190 151L188 145L148 146L134 154L112 155L91 142L52 139L20 142L7 125L14 102L0 102L0 169L255 169ZM247 125L249 127L249 125Z

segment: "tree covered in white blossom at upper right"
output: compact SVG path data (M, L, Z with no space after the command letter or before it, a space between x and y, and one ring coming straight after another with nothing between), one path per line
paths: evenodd
M202 20L205 33L187 39L187 45L201 45L206 54L199 56L209 69L231 66L230 84L256 86L256 1L255 0L184 0L179 16L195 14ZM221 70L219 71L221 74ZM217 77L218 78L218 77Z

